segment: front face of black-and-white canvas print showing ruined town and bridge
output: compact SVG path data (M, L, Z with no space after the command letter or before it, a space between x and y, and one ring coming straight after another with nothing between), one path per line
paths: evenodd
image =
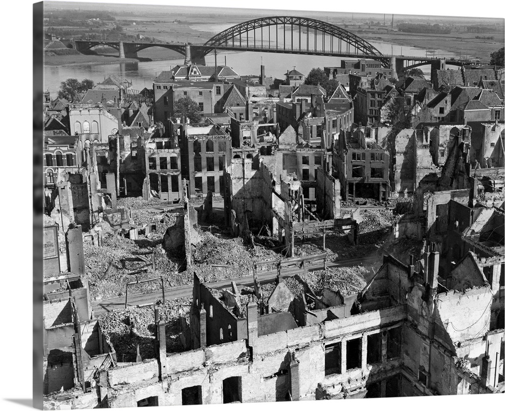
M502 18L43 31L44 409L504 392Z

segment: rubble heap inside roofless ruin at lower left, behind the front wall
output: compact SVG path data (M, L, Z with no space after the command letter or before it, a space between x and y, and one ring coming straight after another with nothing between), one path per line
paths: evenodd
M166 323L167 352L180 352L182 332L179 310L189 324L190 298L178 298L158 304L160 319ZM104 334L110 338L118 362L135 362L137 344L142 359L155 358L155 320L152 305L112 311L98 319Z

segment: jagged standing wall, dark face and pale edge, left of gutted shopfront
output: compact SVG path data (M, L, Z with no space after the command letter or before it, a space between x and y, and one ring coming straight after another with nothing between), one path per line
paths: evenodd
M317 168L316 210L324 220L340 218L340 181Z

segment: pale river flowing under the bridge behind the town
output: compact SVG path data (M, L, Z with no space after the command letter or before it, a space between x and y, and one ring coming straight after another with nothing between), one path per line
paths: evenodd
M190 26L194 30L211 31L219 33L228 25L223 24L195 24ZM310 34L311 43L314 41L314 34ZM306 34L304 33L304 36ZM371 41L378 50L383 54L394 54L403 56L444 56L458 57L454 53L444 50L430 50L400 46L380 41ZM326 42L329 44L329 41ZM286 45L287 47L288 45ZM325 66L340 66L341 58L324 57L324 56L305 56L305 55L290 55L290 54L275 54L275 53L258 53L258 52L219 52L217 53L218 65L226 64L232 67L238 74L255 74L260 73L260 66L265 66L266 76L276 78L284 78L284 74L296 67L296 70L308 74L313 67ZM51 97L55 98L60 88L60 83L67 78L76 78L78 80L90 79L96 83L103 81L110 74L117 74L123 78L132 81L132 88L141 90L144 87L151 88L153 80L164 70L170 70L172 67L183 64L184 57L180 59L155 60L147 62L131 62L117 64L83 64L83 65L68 65L68 66L44 66L44 88L51 92ZM214 54L206 57L207 65L214 65ZM430 67L423 66L421 69L427 77L430 75Z

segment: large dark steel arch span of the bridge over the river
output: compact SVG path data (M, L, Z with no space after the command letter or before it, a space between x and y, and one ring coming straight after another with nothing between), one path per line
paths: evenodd
M200 56L214 49L335 57L366 56L389 66L389 58L382 57L382 53L365 39L333 24L306 17L248 20L216 34L201 46L192 45L191 48L196 48Z

